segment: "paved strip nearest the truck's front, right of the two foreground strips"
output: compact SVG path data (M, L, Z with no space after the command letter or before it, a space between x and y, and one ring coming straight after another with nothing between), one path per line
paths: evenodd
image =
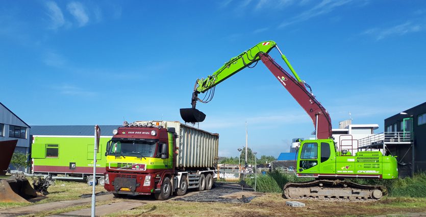
M111 203L111 204L106 204L106 205L102 205L102 206L96 206L95 213L96 213L96 216L101 216L101 215L105 215L105 214L109 214L109 213L133 209L133 208L136 208L138 206L143 206L145 204L146 203L144 203L144 202L131 202L131 201ZM51 216L51 217L91 216L91 213L92 213L92 209L87 208L87 209L81 209L81 210L77 210L77 211L65 212L65 213L56 214L56 215L49 215L49 216Z

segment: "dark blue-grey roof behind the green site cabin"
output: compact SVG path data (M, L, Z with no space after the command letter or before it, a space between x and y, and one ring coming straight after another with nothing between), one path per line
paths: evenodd
M118 125L99 125L101 136L113 136L112 130ZM93 125L73 126L31 126L31 135L37 136L93 136Z

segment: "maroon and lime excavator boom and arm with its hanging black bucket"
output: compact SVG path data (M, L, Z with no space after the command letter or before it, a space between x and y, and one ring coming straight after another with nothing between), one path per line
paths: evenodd
M285 61L293 76L287 73L280 65L278 65L268 53L276 48L282 59ZM308 86L300 80L295 70L287 60L286 56L280 51L277 43L274 41L263 41L253 46L247 51L244 51L240 55L231 58L218 70L216 70L211 76L207 78L197 79L194 91L192 93L191 105L192 108L182 108L180 110L181 117L185 122L196 123L203 122L206 118L206 114L195 108L196 102L208 103L213 98L214 88L220 82L228 79L229 77L238 73L238 71L246 67L254 67L259 60L268 67L271 73L277 78L280 83L290 92L293 98L302 106L308 115L311 117L315 130L317 132L317 138L325 139L331 138L331 119L327 110L315 99L312 92L309 92L305 86ZM309 86L308 86L309 87ZM205 93L207 91L213 91L206 94L207 99L199 99L198 93Z

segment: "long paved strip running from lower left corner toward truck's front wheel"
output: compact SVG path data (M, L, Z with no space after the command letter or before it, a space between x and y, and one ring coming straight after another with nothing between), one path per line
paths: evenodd
M103 195L96 197L96 201L108 201L112 200L114 196L112 194L110 195ZM82 204L87 204L92 201L91 198L84 198L84 199L78 199L78 200L69 200L69 201L59 201L59 202L52 202L52 203L43 203L43 204L36 204L36 205L30 205L30 206L23 206L13 209L6 209L0 211L0 216L17 216L17 215L25 215L25 214L32 214L36 212L42 212L47 210L53 210L53 209L60 209L65 208L69 206L78 206Z

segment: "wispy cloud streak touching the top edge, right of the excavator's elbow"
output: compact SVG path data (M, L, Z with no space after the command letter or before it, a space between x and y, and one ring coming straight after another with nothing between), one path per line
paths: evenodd
M346 5L350 2L352 2L352 0L336 0L336 1L322 0L322 2L320 2L313 8L300 13L299 15L289 19L288 21L281 23L279 27L283 28L283 27L292 25L293 23L302 22L322 14L330 13L336 8Z

